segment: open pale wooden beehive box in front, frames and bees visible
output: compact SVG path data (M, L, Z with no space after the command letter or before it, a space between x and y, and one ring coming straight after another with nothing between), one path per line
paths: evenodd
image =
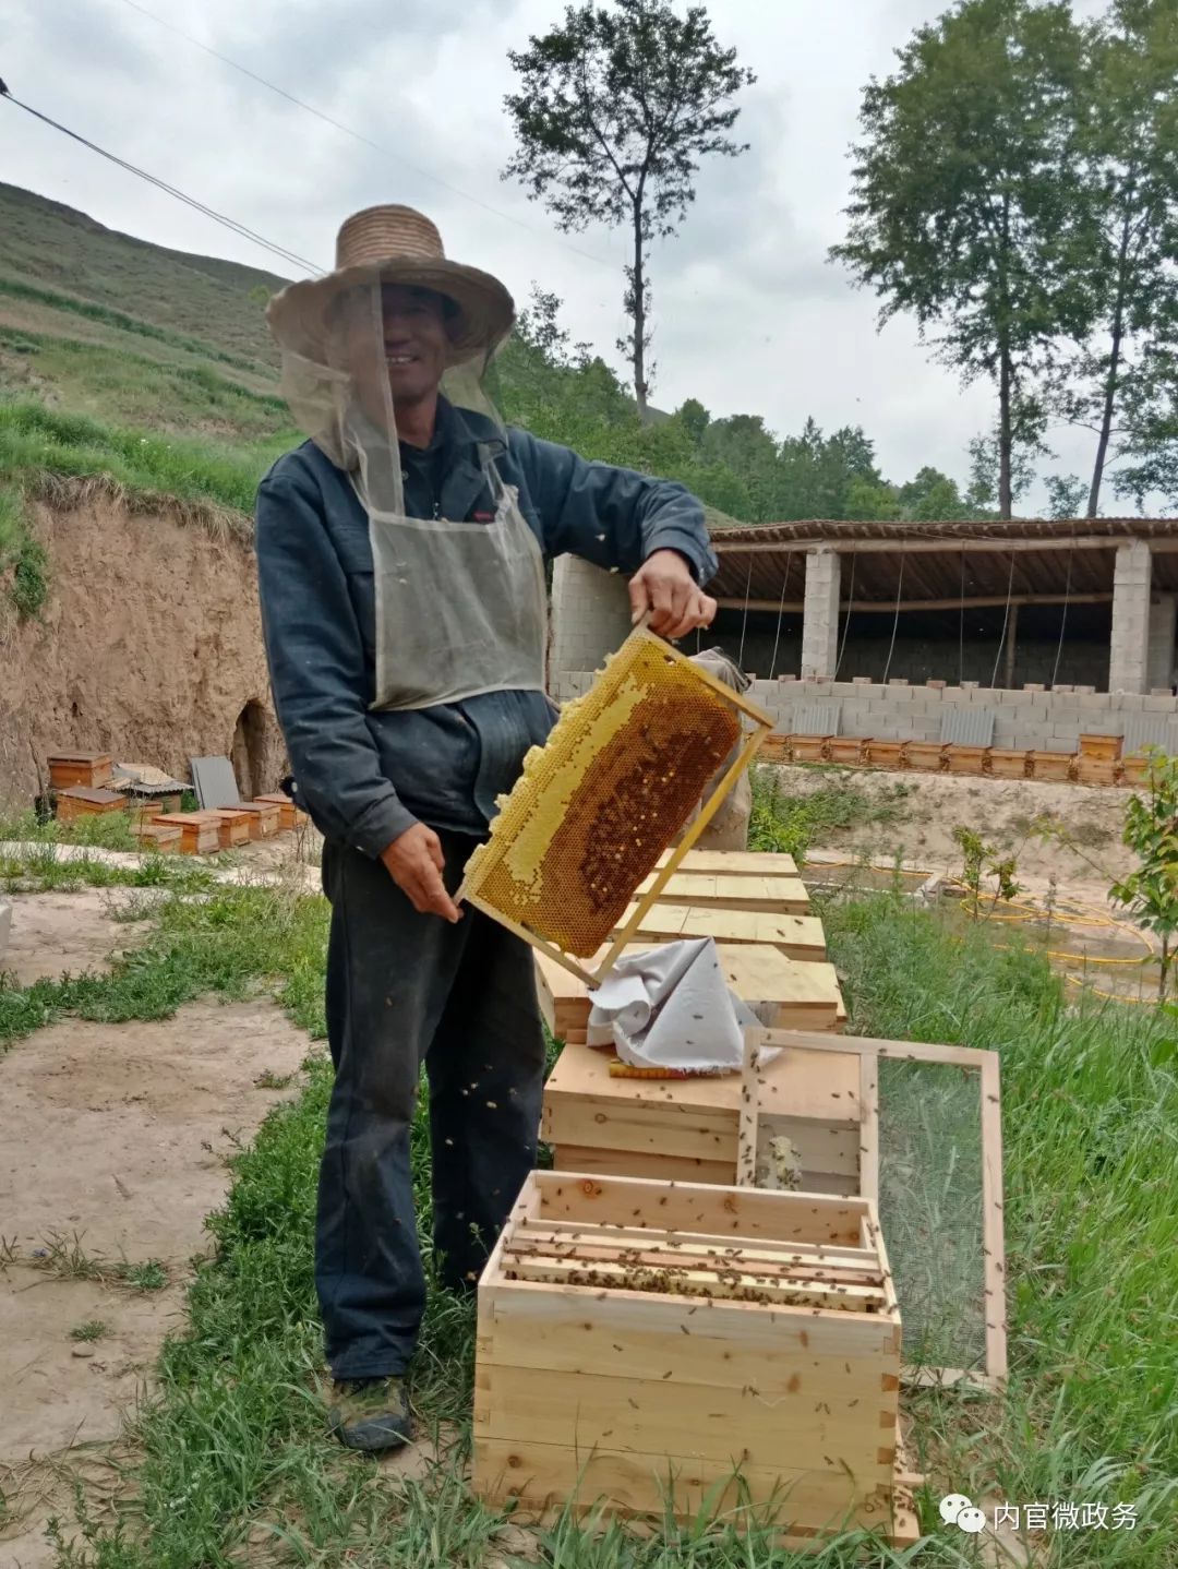
M478 1287L474 1489L910 1542L899 1368L869 1202L533 1172Z

